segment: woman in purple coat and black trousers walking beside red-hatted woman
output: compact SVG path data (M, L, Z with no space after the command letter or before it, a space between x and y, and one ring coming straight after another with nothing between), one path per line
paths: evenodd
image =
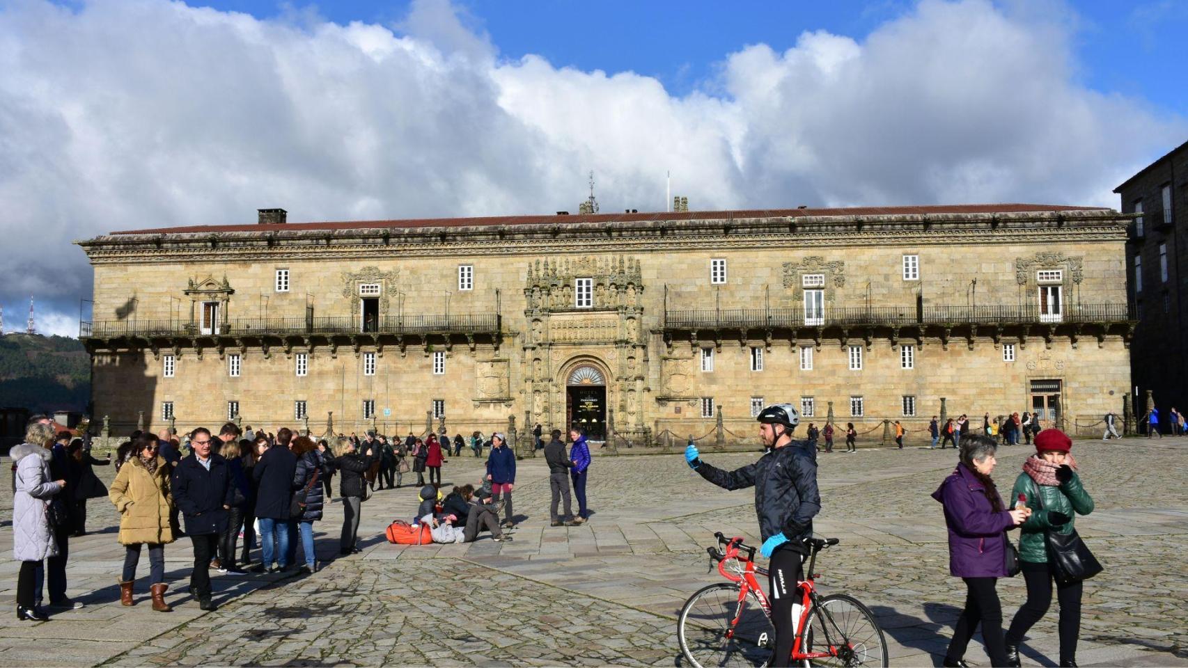
M1026 520L1030 510L1007 510L990 472L998 445L984 435L961 439L961 463L933 492L944 505L949 529L949 572L965 580L966 605L953 629L943 666L963 667L966 647L981 623L981 636L992 666L1006 666L1003 607L994 589L1006 577L1006 532Z

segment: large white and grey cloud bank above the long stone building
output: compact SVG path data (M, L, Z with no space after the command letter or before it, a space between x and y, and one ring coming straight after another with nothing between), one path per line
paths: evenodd
M1110 190L1184 119L1086 89L1059 5L924 0L653 78L500 58L443 0L397 27L163 0L0 5L0 300L70 313L114 229L576 209L1051 202ZM1051 9L1055 7L1055 9ZM18 246L19 244L19 246ZM63 316L68 317L68 316Z

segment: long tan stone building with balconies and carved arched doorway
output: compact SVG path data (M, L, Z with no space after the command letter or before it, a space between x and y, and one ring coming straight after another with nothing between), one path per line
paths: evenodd
M871 443L942 412L1089 430L1130 387L1108 209L260 221L77 242L96 421L576 424L646 447L753 444L753 412L790 402Z

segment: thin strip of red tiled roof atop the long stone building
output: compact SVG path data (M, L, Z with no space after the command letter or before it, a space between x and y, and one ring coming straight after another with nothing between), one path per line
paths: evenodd
M473 218L410 218L404 221L341 221L284 224L183 225L122 230L112 234L213 234L234 231L354 230L385 228L461 228L478 225L533 225L557 223L627 223L661 221L704 221L721 218L782 218L809 216L921 216L972 214L1026 214L1043 211L1108 211L1104 206L1061 204L948 204L935 206L855 206L849 209L745 209L733 211L657 211L639 214L574 214L536 216L485 216Z

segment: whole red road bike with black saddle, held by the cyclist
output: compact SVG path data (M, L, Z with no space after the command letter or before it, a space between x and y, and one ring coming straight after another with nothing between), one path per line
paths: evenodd
M741 537L714 534L718 547L706 548L718 561L718 572L729 583L699 590L677 622L681 653L696 668L710 666L767 666L775 653L776 628L771 605L756 575L767 571L754 565L756 548ZM874 615L854 597L816 591L816 555L838 545L838 539L809 539L805 579L797 583L801 605L794 609L796 638L791 663L798 666L887 666L887 643Z

